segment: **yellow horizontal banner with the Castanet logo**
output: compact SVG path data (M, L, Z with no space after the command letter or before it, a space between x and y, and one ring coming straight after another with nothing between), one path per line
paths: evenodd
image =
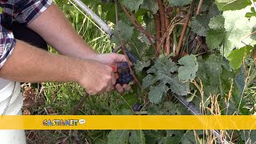
M256 116L0 116L1 130L256 130Z

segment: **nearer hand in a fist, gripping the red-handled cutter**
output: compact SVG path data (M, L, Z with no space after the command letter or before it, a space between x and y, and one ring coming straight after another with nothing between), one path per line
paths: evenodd
M85 65L81 67L80 75L78 82L90 95L114 90L116 79L113 70L101 62L86 60Z

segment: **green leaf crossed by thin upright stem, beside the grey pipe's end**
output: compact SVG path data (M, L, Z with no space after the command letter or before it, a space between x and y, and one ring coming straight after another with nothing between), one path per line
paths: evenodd
M134 34L134 26L128 26L126 22L122 22L122 20L118 22L118 26L119 34L123 41L127 41L132 38ZM117 28L114 29L113 34L116 35L116 37L113 38L113 42L119 44Z

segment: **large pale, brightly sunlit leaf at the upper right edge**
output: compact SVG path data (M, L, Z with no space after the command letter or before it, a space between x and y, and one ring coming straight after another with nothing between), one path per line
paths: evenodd
M250 6L242 10L224 11L226 38L224 42L224 56L227 58L232 50L246 45L254 45L255 40L249 36L254 29L256 18L246 18ZM222 52L222 50L221 50Z

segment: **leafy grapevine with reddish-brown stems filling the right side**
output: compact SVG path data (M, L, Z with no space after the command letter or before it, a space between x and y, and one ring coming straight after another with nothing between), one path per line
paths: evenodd
M244 96L256 75L250 71L255 66L246 67L251 59L255 62L256 13L250 1L116 0L94 5L102 6L104 20L113 26L114 52L134 63L118 65L117 83L138 83L126 94L126 102L136 102L129 103L130 109L115 108L114 114L191 114L188 109L194 107L195 114L253 114ZM245 135L256 142L254 131L232 130L111 130L108 142L121 137L120 143L241 143Z

